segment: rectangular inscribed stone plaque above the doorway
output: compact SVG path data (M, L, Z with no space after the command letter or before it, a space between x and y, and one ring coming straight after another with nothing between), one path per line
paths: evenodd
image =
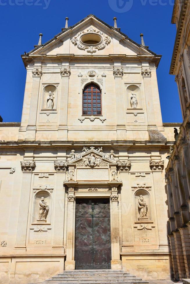
M108 169L77 169L77 179L79 181L108 181Z

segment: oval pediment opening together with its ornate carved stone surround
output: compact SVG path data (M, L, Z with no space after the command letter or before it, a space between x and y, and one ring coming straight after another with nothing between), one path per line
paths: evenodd
M111 38L91 27L86 32L78 32L71 42L77 45L80 50L86 50L88 53L93 54L97 50L104 49L111 42Z

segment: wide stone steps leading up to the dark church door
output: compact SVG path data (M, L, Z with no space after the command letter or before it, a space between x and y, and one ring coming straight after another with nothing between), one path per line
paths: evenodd
M123 270L67 270L53 276L41 284L148 284L148 281L142 281Z

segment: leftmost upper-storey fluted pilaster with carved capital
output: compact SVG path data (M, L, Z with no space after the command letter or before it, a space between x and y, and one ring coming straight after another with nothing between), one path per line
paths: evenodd
M26 140L35 141L36 134L36 117L37 105L39 97L40 79L42 77L42 69L34 68L32 71L33 83L31 93L30 112L28 119L28 126L26 128Z

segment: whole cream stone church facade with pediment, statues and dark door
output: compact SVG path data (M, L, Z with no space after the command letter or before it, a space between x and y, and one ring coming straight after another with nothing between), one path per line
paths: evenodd
M161 56L94 15L41 40L22 55L21 123L0 123L1 280L170 279L164 168L180 125L162 122Z

